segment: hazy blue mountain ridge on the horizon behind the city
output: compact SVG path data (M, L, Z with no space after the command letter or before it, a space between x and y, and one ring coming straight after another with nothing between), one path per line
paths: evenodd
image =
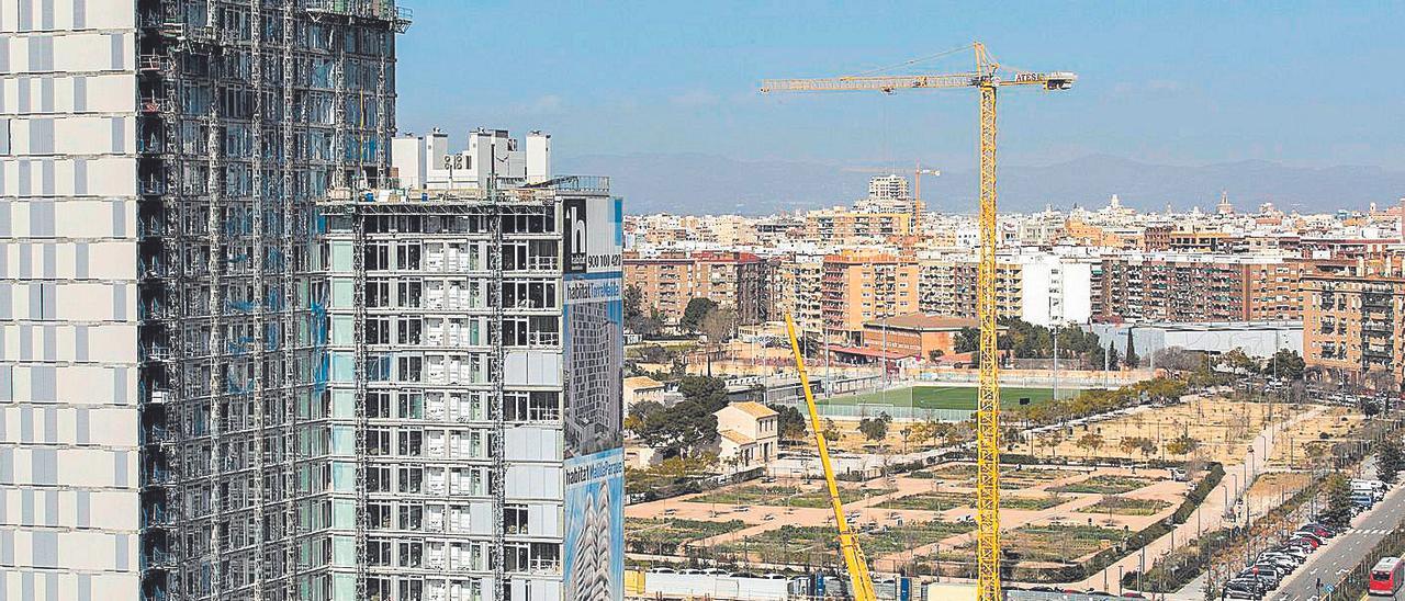
M558 157L558 173L610 176L629 213L764 215L847 205L868 191L870 173L822 163L746 161L715 154L592 154ZM1291 167L1264 160L1207 166L1166 166L1092 154L1041 167L1000 167L1000 208L1040 211L1047 205L1103 206L1117 194L1142 211L1201 206L1220 192L1239 211L1273 202L1284 211L1366 209L1405 197L1405 171L1383 167ZM936 211L975 212L976 174L946 171L922 180L923 198Z

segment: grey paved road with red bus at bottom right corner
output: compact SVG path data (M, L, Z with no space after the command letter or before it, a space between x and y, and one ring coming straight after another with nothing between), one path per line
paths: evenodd
M1374 472L1374 469L1366 470L1366 473ZM1352 520L1352 528L1309 555L1307 563L1298 566L1267 598L1283 601L1316 598L1318 579L1322 579L1322 584L1336 584L1343 574L1361 563L1366 553L1395 529L1401 520L1405 520L1405 486L1397 486L1381 503Z

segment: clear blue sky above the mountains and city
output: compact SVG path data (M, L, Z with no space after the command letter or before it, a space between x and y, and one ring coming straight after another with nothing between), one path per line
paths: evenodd
M399 128L552 133L558 157L702 153L965 170L974 90L762 95L972 39L1071 70L1000 95L1000 163L1405 164L1405 4L400 0ZM896 73L971 69L969 52Z

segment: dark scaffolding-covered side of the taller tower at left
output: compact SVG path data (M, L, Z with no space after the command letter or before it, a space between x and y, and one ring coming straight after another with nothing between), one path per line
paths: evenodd
M299 447L326 418L313 202L385 178L409 17L386 0L136 1L143 600L330 590L327 562L299 572L315 536L299 473L326 463Z

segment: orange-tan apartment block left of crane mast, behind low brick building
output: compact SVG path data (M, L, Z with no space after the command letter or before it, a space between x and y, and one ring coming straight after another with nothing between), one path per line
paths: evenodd
M861 345L864 323L917 310L917 282L913 258L864 251L826 256L821 271L825 336Z

